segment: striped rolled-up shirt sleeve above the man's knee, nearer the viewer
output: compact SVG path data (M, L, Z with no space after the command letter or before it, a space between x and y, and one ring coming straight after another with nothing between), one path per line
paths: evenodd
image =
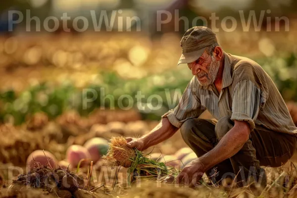
M242 80L234 89L231 120L246 121L250 129L255 128L260 109L261 90L250 80Z

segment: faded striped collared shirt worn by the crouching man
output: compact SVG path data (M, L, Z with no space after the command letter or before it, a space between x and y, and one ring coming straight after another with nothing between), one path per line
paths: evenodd
M187 119L197 118L205 109L217 120L248 122L251 131L261 127L297 136L287 105L269 75L255 61L224 52L222 90L214 84L201 86L196 76L189 82L179 104L165 113L180 128Z

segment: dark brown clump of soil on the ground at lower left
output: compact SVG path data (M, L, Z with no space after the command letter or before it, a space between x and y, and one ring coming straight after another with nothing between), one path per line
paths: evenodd
M61 198L74 196L78 189L85 187L84 178L68 169L53 169L35 162L27 174L20 174L9 186L9 191L23 191L28 188L42 189Z

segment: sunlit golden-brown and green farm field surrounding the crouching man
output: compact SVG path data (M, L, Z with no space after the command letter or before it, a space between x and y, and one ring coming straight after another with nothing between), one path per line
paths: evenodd
M222 33L219 39L227 52L261 64L297 124L296 32L288 33L286 45L278 39L281 33ZM231 37L235 42L228 42ZM192 76L188 68L176 66L179 40L179 35L171 33L155 39L132 33L1 37L0 198L296 197L297 156L282 167L266 168L268 185L261 195L249 187L217 186L207 178L195 190L157 177L147 181L148 175L135 175L130 184L127 168L112 168L102 159L105 140L145 135L178 103ZM139 91L144 95L141 99ZM209 116L207 112L201 115ZM94 138L100 138L96 149L86 154L83 150ZM73 145L76 148L69 149ZM144 155L175 166L176 174L189 162L189 157L178 156L182 148L188 150L185 155L193 156L178 131ZM32 157L35 150L41 152ZM96 153L99 157L94 160ZM26 166L28 160L34 168ZM49 170L37 163L42 160L46 164L52 160L55 168L59 165L70 172ZM62 189L58 191L41 180L49 172L64 174L67 181L77 177L83 185L69 188L58 183ZM42 175L38 181L32 180L36 173Z

